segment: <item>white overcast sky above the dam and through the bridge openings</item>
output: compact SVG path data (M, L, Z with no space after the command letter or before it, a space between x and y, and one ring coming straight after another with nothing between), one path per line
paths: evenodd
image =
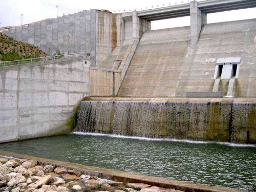
M191 0L0 0L0 27L21 25L21 14L23 24L56 18L58 15L75 13L90 9L107 9L114 12L119 10L140 10L146 7L166 6L169 4L181 4L181 1L188 3ZM198 0L200 1L200 0ZM208 14L208 23L243 20L256 18L256 8L212 13ZM153 21L152 29L171 28L190 25L189 17Z

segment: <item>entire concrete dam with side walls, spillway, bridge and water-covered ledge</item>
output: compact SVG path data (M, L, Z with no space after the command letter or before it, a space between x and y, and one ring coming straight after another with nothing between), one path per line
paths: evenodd
M241 2L244 7L233 1L193 1L163 8L161 14L158 9L90 10L4 29L7 36L39 45L43 51L50 47L51 52L60 49L87 55L73 63L64 60L60 65L58 61L57 69L55 63L41 63L39 68L46 67L48 76L44 73L49 71L38 70L39 76L26 73L21 77L35 68L27 64L22 70L5 67L2 84L16 78L20 83L17 89L0 87L6 102L7 94L16 98L16 104L2 104L1 111L17 111L2 120L12 118L16 124L1 125L3 130L12 127L15 136L1 141L58 134L60 128L55 132L54 127L63 124L67 128L61 132L68 132L73 123L66 121L74 117L76 104L83 100L75 115L74 129L80 132L256 143L256 19L207 24L207 13L255 6L254 1ZM221 5L222 9L216 8ZM191 26L150 30L152 20L180 15L190 15ZM34 81L53 85L37 92L26 86L20 90L22 84ZM26 94L32 98L41 91L47 92L42 97L46 101L41 105L31 99L26 106ZM51 123L51 115L40 122L38 113L45 112L36 107L50 110L58 122ZM38 127L33 134L28 133L32 130L29 122Z

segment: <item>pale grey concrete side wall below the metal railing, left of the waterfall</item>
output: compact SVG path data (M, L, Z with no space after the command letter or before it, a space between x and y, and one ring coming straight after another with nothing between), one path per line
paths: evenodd
M0 142L69 132L89 96L89 66L76 57L0 68Z

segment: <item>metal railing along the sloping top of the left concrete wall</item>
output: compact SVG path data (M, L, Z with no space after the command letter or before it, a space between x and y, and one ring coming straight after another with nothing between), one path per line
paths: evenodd
M48 60L56 60L56 59L65 59L65 58L78 57L78 56L83 56L83 55L86 55L86 53L79 52L79 53L70 53L70 54L63 54L63 55L52 55L52 56L48 56L48 57L15 60L15 61L2 61L2 62L0 62L0 67L10 66L10 65L21 65L21 64L35 63L35 62L48 61Z

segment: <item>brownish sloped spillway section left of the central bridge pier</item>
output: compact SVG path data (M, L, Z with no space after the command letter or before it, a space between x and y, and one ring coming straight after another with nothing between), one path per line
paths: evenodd
M175 96L189 34L189 27L146 31L118 96Z

